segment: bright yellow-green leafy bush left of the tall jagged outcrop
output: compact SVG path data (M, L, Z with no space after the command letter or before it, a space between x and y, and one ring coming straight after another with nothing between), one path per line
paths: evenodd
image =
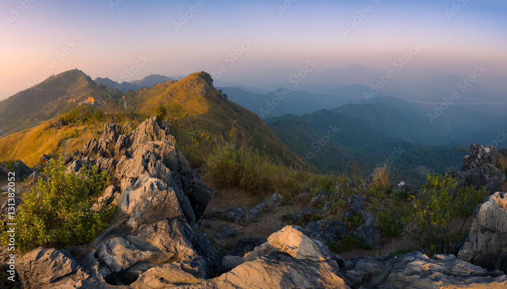
M12 220L18 224L16 251L21 254L38 246L63 248L90 242L116 214L116 208L105 203L96 211L91 208L107 186L107 172L98 173L93 166L76 176L65 173L61 160L50 160L44 171L50 179L30 190ZM2 245L8 240L7 232L0 235Z

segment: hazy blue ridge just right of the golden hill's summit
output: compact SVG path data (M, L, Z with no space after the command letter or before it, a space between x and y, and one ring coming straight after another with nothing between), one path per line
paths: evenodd
M329 94L314 94L305 91L291 91L283 88L267 94L252 93L236 87L221 88L229 100L246 107L261 118L285 114L303 115L326 107L336 107L363 99ZM288 92L288 93L287 93ZM281 100L280 100L281 99Z

